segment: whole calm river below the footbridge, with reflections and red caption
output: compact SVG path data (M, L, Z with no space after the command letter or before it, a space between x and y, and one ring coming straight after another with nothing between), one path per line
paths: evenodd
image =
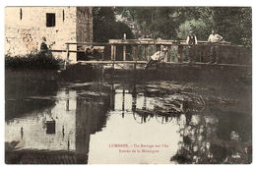
M251 163L251 85L6 73L6 163Z

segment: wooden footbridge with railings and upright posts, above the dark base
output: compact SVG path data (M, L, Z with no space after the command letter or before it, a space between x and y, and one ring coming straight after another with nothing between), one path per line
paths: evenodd
M160 38L126 39L126 35L124 34L122 39L109 39L108 43L66 42L65 44L65 50L51 50L52 52L66 53L65 69L70 64L70 53L75 52L83 58L83 55L86 55L86 49L92 46L100 53L99 57L90 60L78 59L76 64L98 64L112 69L131 69L131 66L133 69L142 69L150 60L150 56L153 53L156 51L161 52L162 48L167 48L167 52L161 63L168 66L251 67L251 56L250 54L244 53L244 46L233 45L229 42L211 44L220 46L220 64L207 64L210 50L210 44L207 41L198 41L198 44L194 46L196 48L196 56L194 57L195 62L193 64L187 63L183 59L186 56L186 48L188 47L185 40ZM77 50L70 50L73 45L76 46Z

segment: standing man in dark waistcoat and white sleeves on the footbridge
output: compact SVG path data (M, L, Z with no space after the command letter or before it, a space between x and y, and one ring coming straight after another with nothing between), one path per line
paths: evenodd
M186 43L188 45L188 62L191 63L194 62L194 56L196 55L195 45L197 44L197 37L193 31L189 31Z

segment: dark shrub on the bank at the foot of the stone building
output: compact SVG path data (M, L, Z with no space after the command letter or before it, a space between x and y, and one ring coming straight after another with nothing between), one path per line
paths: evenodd
M60 69L64 61L54 58L50 52L38 52L27 56L5 56L5 69Z

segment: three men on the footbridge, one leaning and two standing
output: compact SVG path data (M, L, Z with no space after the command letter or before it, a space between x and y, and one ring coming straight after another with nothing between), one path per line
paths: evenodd
M218 64L220 61L219 58L219 51L220 47L218 45L215 45L216 43L219 43L223 41L223 36L216 33L216 31L213 29L212 33L209 35L208 42L211 45L210 46L210 62ZM194 62L194 56L196 55L196 45L197 45L197 37L194 34L193 31L189 31L189 34L187 35L186 44L188 45L188 62L193 63ZM167 48L163 48L161 51L156 52L151 56L150 61L146 64L145 69L148 69L152 64L160 62L165 54L167 52ZM180 58L180 62L182 58Z

